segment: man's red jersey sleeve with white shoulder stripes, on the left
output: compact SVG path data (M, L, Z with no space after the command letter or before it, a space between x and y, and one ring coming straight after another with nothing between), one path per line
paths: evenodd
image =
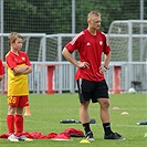
M73 53L75 50L80 49L81 45L81 40L83 36L84 32L78 33L77 35L74 36L74 39L72 41L70 41L65 48Z

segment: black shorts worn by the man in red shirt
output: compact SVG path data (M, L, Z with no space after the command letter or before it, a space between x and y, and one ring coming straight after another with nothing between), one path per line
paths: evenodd
M108 98L108 86L105 80L92 82L87 80L77 80L80 102L97 102L97 98Z

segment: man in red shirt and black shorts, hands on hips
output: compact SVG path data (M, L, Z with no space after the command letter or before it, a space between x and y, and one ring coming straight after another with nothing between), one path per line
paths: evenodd
M108 70L111 61L111 49L105 34L99 31L101 22L101 14L91 11L87 15L88 28L69 42L62 54L67 61L78 67L75 80L77 80L81 102L80 118L85 129L86 138L94 140L88 116L88 105L92 99L93 103L98 102L101 106L99 115L105 132L104 139L125 139L111 129L108 86L104 78L104 73ZM72 56L75 50L80 54L80 62ZM102 65L103 53L104 65Z

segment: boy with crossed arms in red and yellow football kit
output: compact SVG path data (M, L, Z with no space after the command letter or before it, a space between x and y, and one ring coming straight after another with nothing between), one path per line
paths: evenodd
M22 49L22 35L12 32L9 36L10 51L6 55L8 67L8 115L7 126L9 130L8 140L30 140L22 136L23 132L23 107L29 106L28 74L32 72L28 54ZM15 126L15 130L14 130Z

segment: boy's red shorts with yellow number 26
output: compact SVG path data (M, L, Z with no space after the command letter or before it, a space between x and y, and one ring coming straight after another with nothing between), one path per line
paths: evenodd
M10 106L29 106L29 98L28 95L24 96L8 96L8 104Z

